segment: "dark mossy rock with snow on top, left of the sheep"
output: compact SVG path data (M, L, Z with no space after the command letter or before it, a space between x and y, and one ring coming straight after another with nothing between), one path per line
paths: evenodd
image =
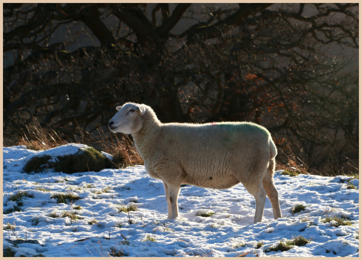
M56 158L54 160L54 158ZM101 152L94 148L80 149L79 152L71 155L51 157L33 157L26 163L24 171L41 172L49 168L56 172L72 174L75 172L101 171L112 166L110 159L104 157Z

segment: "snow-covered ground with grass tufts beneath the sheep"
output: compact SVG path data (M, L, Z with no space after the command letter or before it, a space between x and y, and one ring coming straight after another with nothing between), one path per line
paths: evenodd
M81 146L60 146L43 153L69 154ZM3 211L20 209L3 215L4 228L8 223L16 225L14 232L3 230L3 248L12 246L9 239L40 243L11 247L15 256L109 256L111 251L124 256L230 257L248 252L246 257L359 256L359 190L346 189L347 181L359 187L352 177L290 177L277 171L274 179L283 218L273 219L267 198L262 223L252 223L255 199L242 184L222 190L187 185L178 199L180 218L169 220L163 184L150 178L144 166L76 174L25 173L26 160L39 153L25 146L3 148ZM29 196L22 197L20 205L9 200L19 191ZM80 199L58 204L51 196L59 193ZM119 212L119 204L136 205L138 210ZM306 209L292 214L298 204ZM78 218L60 217L64 212ZM198 216L208 212L215 214ZM335 227L333 222L321 222L326 216L343 216L352 225ZM284 252L268 252L280 240L299 235L311 242ZM256 249L257 242L264 244Z

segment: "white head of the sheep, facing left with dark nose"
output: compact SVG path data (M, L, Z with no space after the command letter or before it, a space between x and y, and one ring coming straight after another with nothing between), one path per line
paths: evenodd
M136 103L126 103L116 107L117 114L109 120L108 127L112 132L136 133L143 125L142 116L146 112L146 106Z

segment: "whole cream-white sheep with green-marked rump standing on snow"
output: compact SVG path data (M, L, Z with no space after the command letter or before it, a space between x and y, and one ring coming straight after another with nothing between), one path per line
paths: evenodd
M266 195L281 218L273 175L276 146L269 131L249 122L166 123L150 106L125 103L109 121L112 132L131 134L147 173L163 181L168 219L178 217L181 184L225 189L242 183L255 197L262 222Z

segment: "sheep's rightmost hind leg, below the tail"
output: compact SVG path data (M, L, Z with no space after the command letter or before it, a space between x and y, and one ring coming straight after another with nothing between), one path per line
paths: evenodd
M279 204L279 194L277 188L275 188L274 180L274 159L270 160L268 170L265 173L263 179L263 186L266 191L266 195L270 200L271 206L273 207L274 219L282 217L282 210Z

